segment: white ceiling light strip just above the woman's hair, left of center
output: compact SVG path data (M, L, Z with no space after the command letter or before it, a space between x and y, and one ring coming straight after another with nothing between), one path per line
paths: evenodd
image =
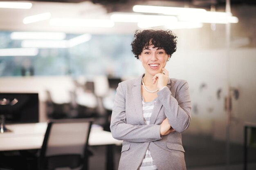
M165 15L136 15L136 14L113 14L110 19L115 22L176 22L174 16Z

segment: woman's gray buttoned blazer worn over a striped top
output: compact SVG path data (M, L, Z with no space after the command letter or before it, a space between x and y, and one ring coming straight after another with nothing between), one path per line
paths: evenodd
M141 75L119 83L112 109L110 130L115 139L123 140L119 170L137 170L149 147L159 170L186 170L181 132L189 127L191 100L185 80L170 79L167 87L157 92L150 124L142 115ZM160 136L165 118L175 129Z

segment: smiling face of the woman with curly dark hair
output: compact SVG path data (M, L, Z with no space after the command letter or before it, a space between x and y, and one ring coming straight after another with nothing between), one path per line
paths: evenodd
M145 68L145 74L152 76L162 72L162 68L165 67L166 62L170 57L170 55L166 54L164 49L153 47L154 45L150 45L148 48L144 47L139 55L139 59Z

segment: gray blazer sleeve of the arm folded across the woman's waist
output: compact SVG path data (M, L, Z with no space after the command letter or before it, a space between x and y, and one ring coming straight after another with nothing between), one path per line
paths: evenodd
M150 142L162 139L160 125L132 125L126 123L126 98L119 83L112 109L110 130L112 137L130 142Z

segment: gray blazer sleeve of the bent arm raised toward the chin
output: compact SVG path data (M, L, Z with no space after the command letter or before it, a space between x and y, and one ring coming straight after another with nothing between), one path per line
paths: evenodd
M176 83L178 83L178 85L175 97L173 97L168 88L157 92L157 95L164 106L164 113L169 124L177 132L183 132L189 127L191 121L189 85L185 80L180 80Z

